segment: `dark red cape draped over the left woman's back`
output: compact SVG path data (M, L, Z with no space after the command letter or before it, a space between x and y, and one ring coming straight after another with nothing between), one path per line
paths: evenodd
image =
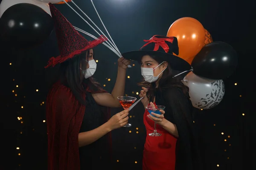
M100 89L95 93L105 92ZM85 106L60 82L50 89L46 105L48 170L80 170L78 134Z

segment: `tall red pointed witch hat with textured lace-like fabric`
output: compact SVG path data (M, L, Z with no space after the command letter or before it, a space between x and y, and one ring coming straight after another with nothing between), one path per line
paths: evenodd
M55 8L52 3L49 3L52 19L54 21L56 36L58 40L58 48L60 54L58 57L51 57L48 61L48 67L54 67L56 64L71 59L72 57L94 48L108 39L101 35L98 39L87 41L71 23Z

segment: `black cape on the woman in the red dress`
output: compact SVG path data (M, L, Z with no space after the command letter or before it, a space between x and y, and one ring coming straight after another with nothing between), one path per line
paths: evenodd
M165 118L177 126L179 138L176 144L175 170L203 170L189 94L185 95L178 87L156 89L155 102L166 106Z

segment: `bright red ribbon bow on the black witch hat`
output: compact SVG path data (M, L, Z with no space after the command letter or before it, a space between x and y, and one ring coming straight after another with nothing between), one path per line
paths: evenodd
M149 43L151 42L154 42L155 43L155 46L154 46L154 51L157 51L159 49L159 47L161 46L164 51L166 53L168 53L169 51L169 46L166 44L165 41L169 41L169 42L173 42L174 38L173 37L168 37L168 38L157 38L155 36L158 36L158 35L154 35L150 40L144 40L145 42L147 42L145 45L143 45L141 48L145 47L146 45L148 45ZM140 48L140 49L141 49Z

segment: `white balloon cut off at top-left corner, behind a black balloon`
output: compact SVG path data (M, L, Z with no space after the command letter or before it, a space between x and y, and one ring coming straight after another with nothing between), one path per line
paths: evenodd
M0 17L2 17L6 9L18 3L31 3L33 5L39 6L40 8L44 9L44 11L46 11L49 15L51 15L51 11L47 3L42 3L37 0L2 0L0 4Z

